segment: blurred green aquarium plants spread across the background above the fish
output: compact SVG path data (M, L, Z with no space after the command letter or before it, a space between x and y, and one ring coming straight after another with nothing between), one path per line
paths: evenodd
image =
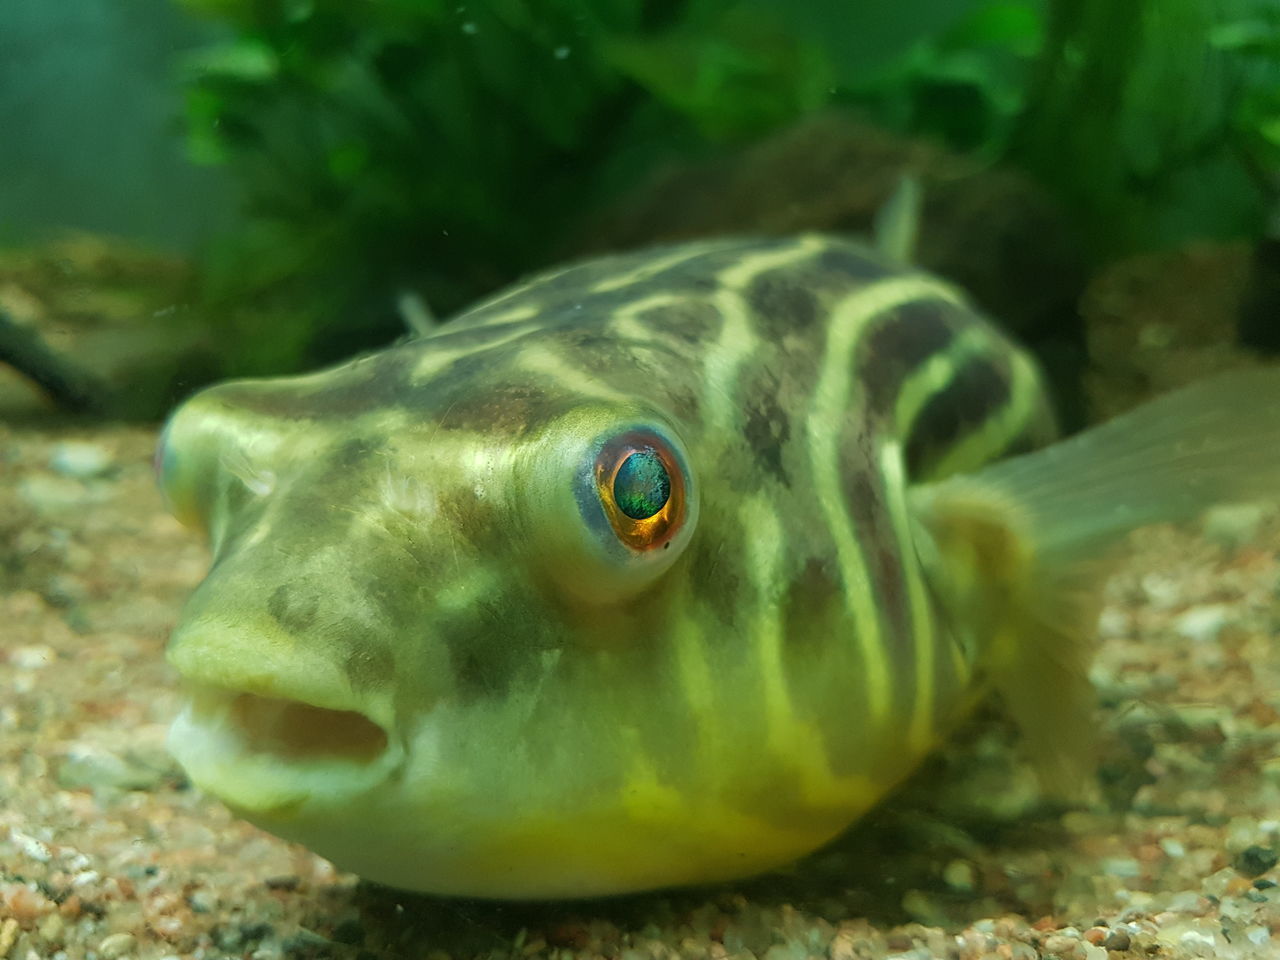
M1030 169L1100 252L1262 230L1275 0L178 0L192 156L248 225L209 259L229 369L399 332L556 259L662 163L831 104Z

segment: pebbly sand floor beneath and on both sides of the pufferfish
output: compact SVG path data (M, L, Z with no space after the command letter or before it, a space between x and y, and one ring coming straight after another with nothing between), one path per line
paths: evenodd
M1280 521L1152 530L1108 586L1098 801L992 714L795 869L604 902L358 883L198 795L161 652L204 572L154 431L0 426L0 960L1280 957Z

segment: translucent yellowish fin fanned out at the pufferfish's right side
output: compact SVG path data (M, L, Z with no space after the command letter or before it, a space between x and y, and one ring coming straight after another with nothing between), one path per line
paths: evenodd
M1092 659L1110 548L1222 502L1280 500L1280 370L1152 401L1036 453L913 490L922 562L1046 786L1092 765Z

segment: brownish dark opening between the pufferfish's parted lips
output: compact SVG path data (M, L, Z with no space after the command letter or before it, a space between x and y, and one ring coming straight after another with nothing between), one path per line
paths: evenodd
M355 710L238 694L230 721L255 750L289 760L370 763L387 750L387 731Z

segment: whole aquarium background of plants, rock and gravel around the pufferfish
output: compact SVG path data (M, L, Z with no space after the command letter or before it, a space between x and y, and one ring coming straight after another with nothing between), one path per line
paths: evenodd
M1096 803L992 707L726 887L404 895L165 751L207 566L155 492L177 402L593 253L869 234L904 177L1069 429L1275 362L1276 0L0 0L0 960L1280 956L1270 507L1133 538Z

